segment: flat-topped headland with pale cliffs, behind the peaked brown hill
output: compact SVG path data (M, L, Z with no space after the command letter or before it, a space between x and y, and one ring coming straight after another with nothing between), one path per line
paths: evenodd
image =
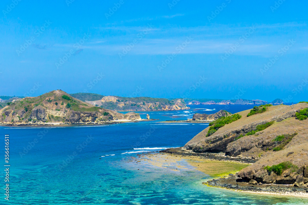
M189 109L183 99L164 99L150 97L105 96L101 100L86 101L94 106L116 111L168 111Z

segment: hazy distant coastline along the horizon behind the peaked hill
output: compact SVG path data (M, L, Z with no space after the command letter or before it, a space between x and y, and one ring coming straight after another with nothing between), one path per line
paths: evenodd
M263 100L222 100L208 98L152 98L152 97L120 97L104 96L95 93L73 93L70 94L80 101L89 103L95 107L110 109L114 111L169 111L186 110L187 105L227 105L227 104L283 104L282 99L275 99L272 102ZM24 97L0 96L0 109L7 103L14 102Z

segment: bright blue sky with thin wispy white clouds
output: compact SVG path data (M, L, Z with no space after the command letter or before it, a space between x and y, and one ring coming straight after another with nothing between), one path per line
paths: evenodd
M4 0L0 95L308 101L307 6Z

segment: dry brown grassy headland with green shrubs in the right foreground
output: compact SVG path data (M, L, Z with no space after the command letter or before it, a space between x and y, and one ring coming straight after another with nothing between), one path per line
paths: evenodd
M253 179L257 183L308 187L308 121L300 121L295 115L307 107L307 103L277 105L249 117L250 110L239 112L241 119L225 124L211 136L206 136L209 130L206 128L182 149L258 160L238 172L240 180L245 182ZM251 132L269 122L273 124L264 130Z

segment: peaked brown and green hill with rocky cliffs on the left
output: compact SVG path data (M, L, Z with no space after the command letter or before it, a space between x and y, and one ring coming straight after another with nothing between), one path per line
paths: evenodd
M116 120L141 120L141 118L137 113L122 114L94 107L71 97L62 90L55 90L38 97L26 97L0 110L2 125L104 123Z

